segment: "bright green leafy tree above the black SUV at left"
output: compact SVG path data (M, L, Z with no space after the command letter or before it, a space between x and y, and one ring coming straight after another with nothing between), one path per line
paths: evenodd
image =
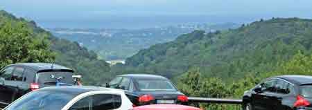
M0 26L0 68L19 62L52 62L46 35L37 37L27 24L4 19Z

